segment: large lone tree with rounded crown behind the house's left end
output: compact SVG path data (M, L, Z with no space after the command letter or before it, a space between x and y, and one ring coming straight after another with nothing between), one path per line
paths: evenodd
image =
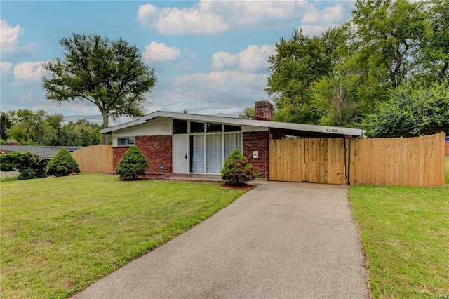
M43 77L47 100L93 103L102 114L102 128L107 128L109 117L142 116L143 95L152 91L156 75L136 46L88 34L72 34L59 44L64 58L43 63L51 74ZM103 143L108 143L107 135Z

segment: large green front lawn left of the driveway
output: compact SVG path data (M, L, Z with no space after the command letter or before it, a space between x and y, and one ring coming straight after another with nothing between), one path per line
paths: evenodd
M1 298L66 298L247 191L101 174L0 187Z

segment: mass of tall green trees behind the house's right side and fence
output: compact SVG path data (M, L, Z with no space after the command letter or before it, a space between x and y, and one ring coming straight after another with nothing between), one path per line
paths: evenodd
M269 58L267 93L276 105L274 119L362 126L382 135L374 129L380 119L389 117L384 123L396 126L391 121L399 118L379 109L396 107L401 97L434 95L448 84L448 24L448 0L357 0L347 24L315 37L295 30L276 43ZM436 109L433 117L445 117L438 112L443 113ZM433 132L428 126L401 133Z

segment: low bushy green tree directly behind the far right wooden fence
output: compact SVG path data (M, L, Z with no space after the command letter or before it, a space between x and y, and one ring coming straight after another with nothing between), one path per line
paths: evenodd
M449 134L449 84L396 88L389 102L377 103L376 112L363 121L363 128L368 137Z

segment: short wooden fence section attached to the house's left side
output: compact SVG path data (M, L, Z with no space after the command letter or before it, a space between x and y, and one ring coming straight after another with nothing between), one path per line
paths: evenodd
M112 145L91 145L72 152L81 173L114 173Z

